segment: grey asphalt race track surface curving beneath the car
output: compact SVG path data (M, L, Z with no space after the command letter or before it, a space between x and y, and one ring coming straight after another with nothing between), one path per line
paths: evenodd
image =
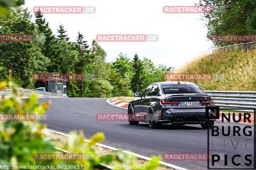
M48 129L63 133L68 133L73 129L84 129L87 139L96 132L104 132L106 140L103 144L130 150L147 157L162 156L163 153L207 153L207 129L202 129L200 125L173 126L165 124L161 129L150 129L147 123L142 122L139 125L129 125L126 121L97 121L96 114L98 113L126 114L127 110L108 104L107 98L40 99L40 101L47 100L52 100L52 105L46 112L48 120L42 122L48 124ZM215 122L215 125L220 125L220 122ZM239 124L239 126L242 129L245 125ZM223 147L225 137L221 136L218 139L219 141L214 142L214 147ZM243 137L234 137L234 144L238 139L241 139L239 145L244 143ZM245 152L247 153L245 149L223 150L223 153L228 155ZM239 161L238 158L236 160ZM187 169L207 169L207 161L165 162ZM241 163L245 163L244 158L241 159ZM214 166L214 168L218 168L218 166Z

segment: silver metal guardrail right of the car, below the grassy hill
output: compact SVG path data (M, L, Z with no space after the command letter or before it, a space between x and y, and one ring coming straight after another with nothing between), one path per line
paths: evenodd
M256 92L205 91L220 108L256 108Z

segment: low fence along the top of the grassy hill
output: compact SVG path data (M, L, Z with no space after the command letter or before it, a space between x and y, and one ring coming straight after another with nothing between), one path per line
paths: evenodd
M256 42L247 42L247 43L241 43L241 44L235 44L225 47L220 47L212 50L212 53L216 52L225 52L229 50L250 50L250 49L256 49Z

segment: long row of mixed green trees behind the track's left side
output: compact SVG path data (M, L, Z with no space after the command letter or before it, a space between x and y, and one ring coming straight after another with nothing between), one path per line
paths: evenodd
M35 15L35 22L31 21ZM107 52L93 40L91 45L81 32L76 42L70 41L67 30L60 24L57 35L52 33L40 11L31 14L27 9L12 6L0 20L0 34L33 34L32 42L0 43L0 76L7 79L12 70L13 80L24 88L46 87L36 82L36 73L79 73L83 81L67 82L68 97L133 96L148 84L163 81L162 75L172 71L135 54L133 59L120 53L112 63Z

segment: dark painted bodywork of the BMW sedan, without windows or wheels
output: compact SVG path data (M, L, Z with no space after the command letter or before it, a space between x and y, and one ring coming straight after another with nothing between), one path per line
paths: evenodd
M134 111L135 114L138 114L138 116L146 116L146 119L143 122L148 122L149 109L152 109L154 114L154 120L156 122L177 124L176 120L179 118L179 119L184 119L185 124L202 123L202 122L198 122L198 120L205 119L205 106L214 106L214 104L203 104L201 103L201 101L211 100L211 97L207 95L203 91L203 89L202 89L203 91L202 94L201 93L164 94L162 85L177 85L177 83L178 82L152 83L150 85L158 86L159 88L158 94L156 96L144 95L144 96L137 97L134 100L131 100L129 102L129 106L132 107L132 110ZM195 83L191 83L191 82L179 82L179 83L182 85L196 85ZM148 87L150 85L148 85ZM151 86L151 88L152 87L153 86ZM199 86L198 88L201 89L201 87ZM161 99L175 100L175 101L178 101L178 104L176 105L161 104ZM198 102L198 106L181 106L181 102Z

